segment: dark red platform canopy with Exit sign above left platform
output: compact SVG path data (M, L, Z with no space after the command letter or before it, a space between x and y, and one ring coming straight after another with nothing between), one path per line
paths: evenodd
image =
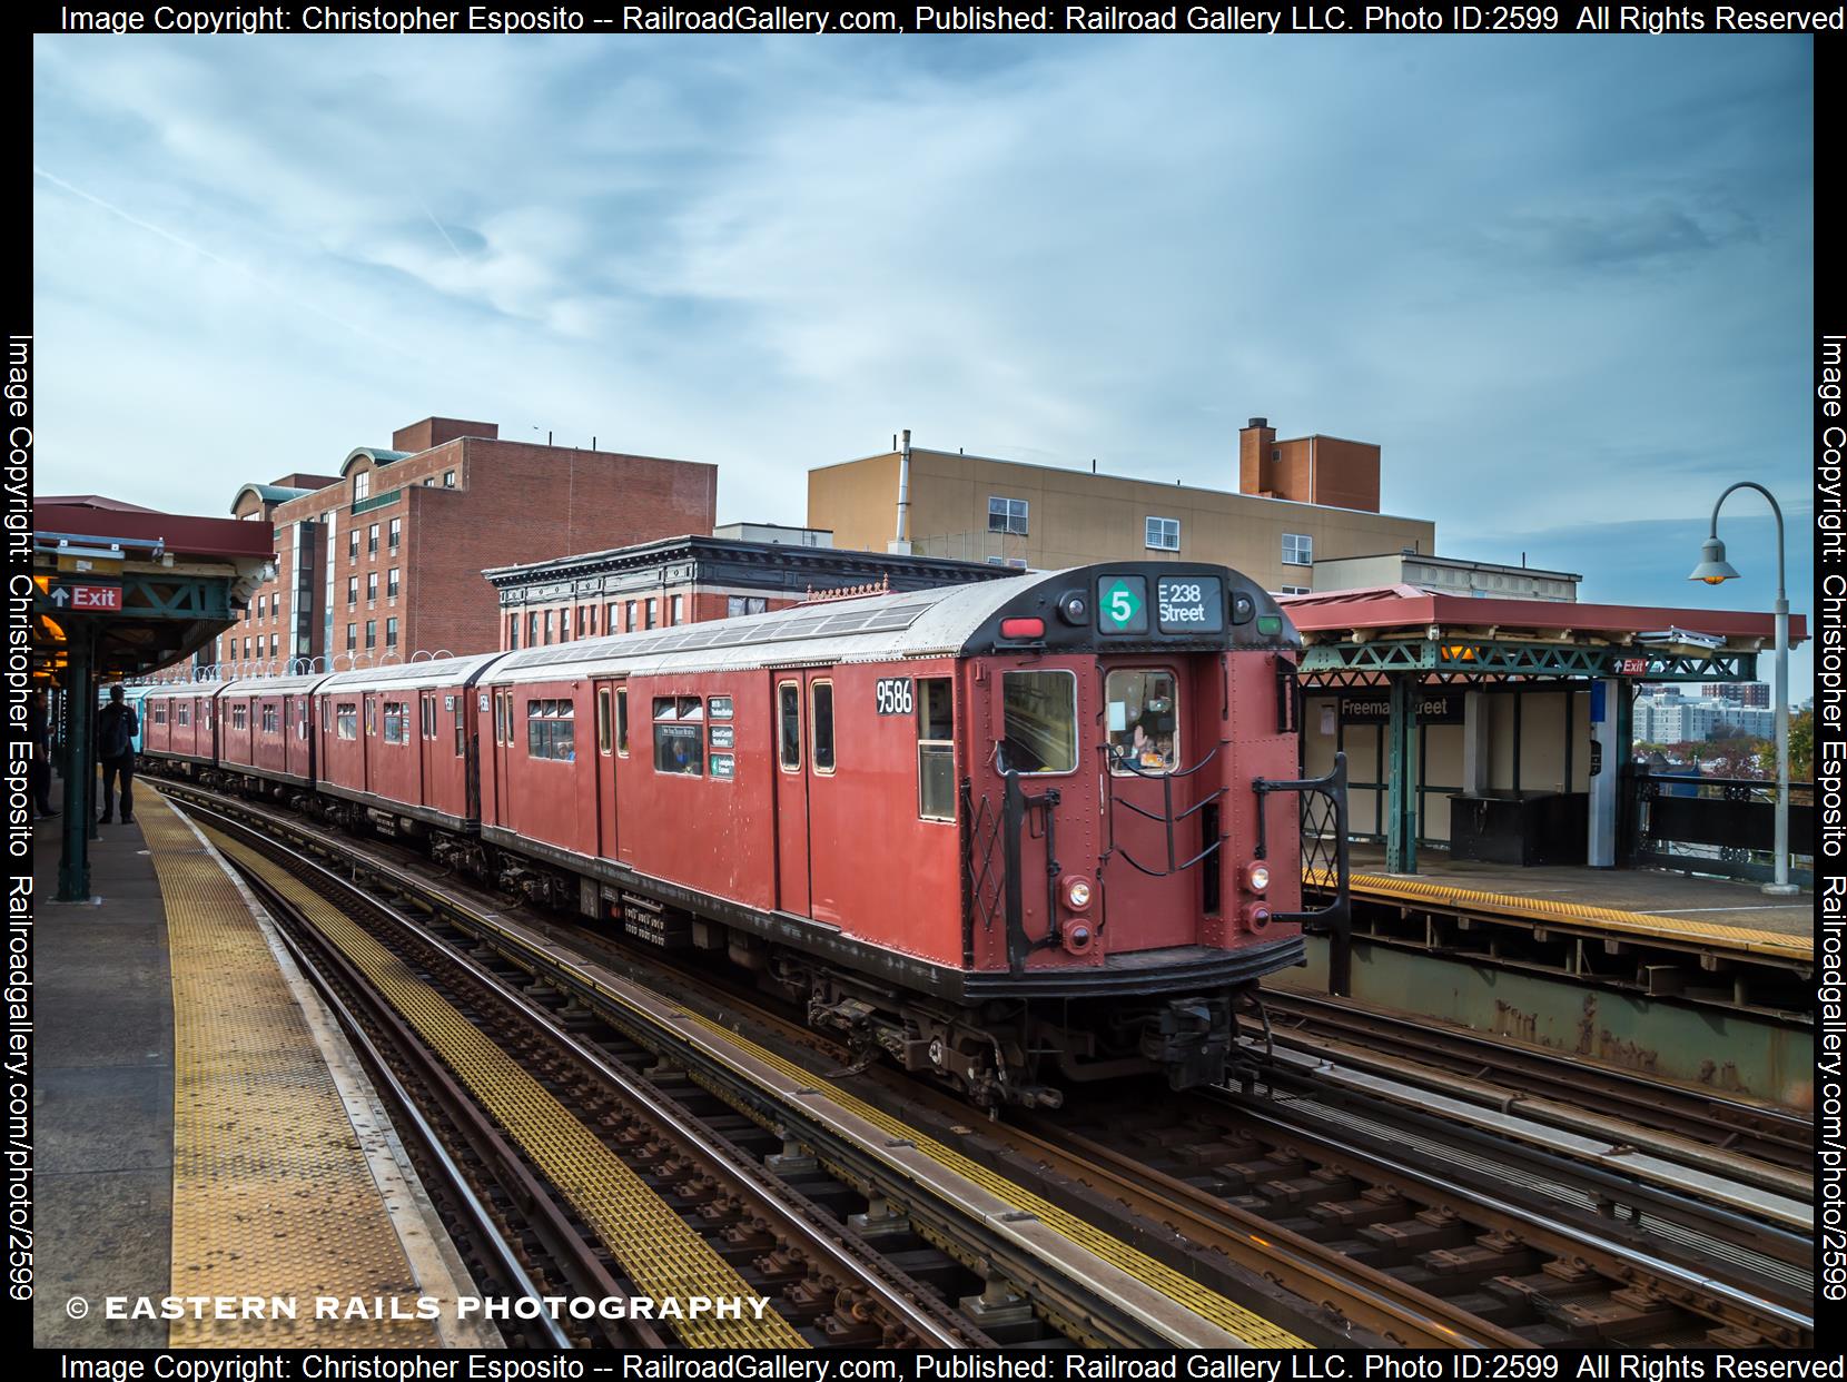
M33 673L59 685L74 637L98 678L170 667L222 634L275 562L268 523L103 495L37 495L31 528Z

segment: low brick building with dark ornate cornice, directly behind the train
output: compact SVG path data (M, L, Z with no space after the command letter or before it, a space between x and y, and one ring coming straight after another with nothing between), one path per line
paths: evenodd
M731 525L752 528L767 525ZM501 604L501 647L667 628L802 604L809 591L931 589L1016 575L981 562L848 552L815 541L669 538L606 552L482 571Z

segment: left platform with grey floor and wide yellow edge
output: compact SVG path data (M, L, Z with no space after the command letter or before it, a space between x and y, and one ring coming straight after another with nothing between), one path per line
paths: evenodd
M35 839L35 1345L491 1345L453 1304L414 1317L473 1286L268 918L159 793L135 807L92 843L87 903L50 902L59 822ZM260 1304L170 1321L164 1297ZM412 1317L380 1319L392 1299Z

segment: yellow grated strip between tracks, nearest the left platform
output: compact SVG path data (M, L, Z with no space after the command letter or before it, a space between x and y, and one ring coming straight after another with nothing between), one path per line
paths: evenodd
M694 1297L759 1299L744 1279L591 1129L477 1031L454 1005L416 977L403 961L332 903L262 855L222 835L212 835L212 843L227 855L260 870L379 987L392 1007L441 1055L456 1077L597 1230L637 1290L656 1301L674 1299L682 1304ZM807 1347L774 1310L765 1310L761 1321L746 1308L742 1319L717 1319L707 1312L670 1323L689 1347Z

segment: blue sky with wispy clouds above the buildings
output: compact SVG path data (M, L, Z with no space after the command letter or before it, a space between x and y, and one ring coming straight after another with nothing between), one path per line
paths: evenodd
M35 42L44 491L216 514L434 412L800 523L901 427L1236 488L1263 414L1598 600L1768 608L1751 495L1684 580L1756 479L1810 612L1806 39Z

